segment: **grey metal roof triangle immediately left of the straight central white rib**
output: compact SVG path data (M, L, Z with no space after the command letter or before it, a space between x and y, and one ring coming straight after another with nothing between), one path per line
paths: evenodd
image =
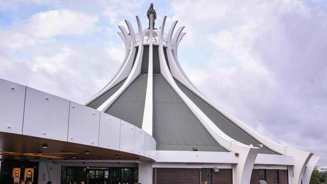
M105 113L142 128L147 74L139 74Z

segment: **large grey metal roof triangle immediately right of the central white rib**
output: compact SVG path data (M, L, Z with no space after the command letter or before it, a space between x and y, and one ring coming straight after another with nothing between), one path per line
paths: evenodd
M158 150L227 150L203 127L161 74L153 74L153 137Z

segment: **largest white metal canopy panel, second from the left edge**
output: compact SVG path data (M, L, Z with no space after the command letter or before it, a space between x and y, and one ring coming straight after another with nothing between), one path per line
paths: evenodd
M23 134L67 141L69 101L26 88Z

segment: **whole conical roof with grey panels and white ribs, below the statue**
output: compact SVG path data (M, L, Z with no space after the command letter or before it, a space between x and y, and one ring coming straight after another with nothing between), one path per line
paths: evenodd
M177 49L184 27L174 37L175 21L169 32L142 30L129 33L119 26L126 56L117 74L88 107L129 122L151 134L157 150L231 151L229 142L260 147L259 153L278 154L249 133L239 123L205 98L179 64ZM224 141L227 141L225 143Z

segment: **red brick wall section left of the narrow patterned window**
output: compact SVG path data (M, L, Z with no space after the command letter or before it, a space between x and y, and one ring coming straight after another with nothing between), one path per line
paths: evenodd
M200 168L157 168L156 183L199 184L200 171Z

